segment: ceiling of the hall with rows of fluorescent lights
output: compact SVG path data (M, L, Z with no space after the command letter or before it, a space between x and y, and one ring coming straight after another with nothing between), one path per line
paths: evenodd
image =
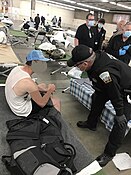
M131 0L41 0L44 2L54 2L55 4L66 4L68 7L75 6L94 10L94 11L103 11L103 9L107 10L107 12L114 13L128 13L131 14ZM88 7L92 6L91 8ZM124 7L122 7L124 6ZM95 9L95 7L100 9Z

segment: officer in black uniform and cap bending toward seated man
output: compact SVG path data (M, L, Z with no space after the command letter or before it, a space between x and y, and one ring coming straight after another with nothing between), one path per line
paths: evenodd
M127 100L131 89L131 68L113 56L102 51L93 52L85 45L78 45L72 50L72 58L67 61L67 65L77 66L81 71L86 71L95 89L88 119L79 121L78 127L95 131L108 100L115 109L116 116L109 140L104 152L96 158L103 167L112 160L121 146L127 121L131 118L131 104Z

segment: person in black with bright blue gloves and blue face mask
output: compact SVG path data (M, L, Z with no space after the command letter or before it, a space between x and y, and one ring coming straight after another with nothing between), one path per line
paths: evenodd
M131 22L126 23L124 33L109 40L106 52L129 64L131 60Z

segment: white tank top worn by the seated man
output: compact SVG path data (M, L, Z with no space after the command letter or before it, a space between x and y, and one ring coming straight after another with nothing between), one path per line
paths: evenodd
M23 78L31 78L30 75L21 69L21 66L15 67L6 79L5 96L7 103L17 116L27 117L32 111L31 97L29 94L18 96L13 87Z

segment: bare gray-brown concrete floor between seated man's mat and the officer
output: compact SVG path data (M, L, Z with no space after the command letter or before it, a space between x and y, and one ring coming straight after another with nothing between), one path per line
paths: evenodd
M25 46L15 46L13 47L18 58L25 62L25 57L29 50L32 48ZM41 66L41 67L39 67ZM47 69L45 70L47 66ZM97 157L100 155L105 147L105 144L108 140L109 131L107 131L104 125L99 122L98 128L96 132L90 131L88 129L80 129L76 126L76 122L79 120L85 120L88 116L89 111L80 104L75 97L73 97L69 91L66 93L62 93L62 90L69 86L69 79L61 74L60 72L55 73L54 75L50 75L50 72L59 68L56 62L48 62L47 65L37 65L36 73L34 77L38 78L38 82L45 83L54 83L57 87L55 95L61 100L61 113L63 118L68 122L70 127L75 131L76 135L79 137L81 142L86 146L89 152L93 155L93 157ZM67 71L64 69L62 71ZM131 155L131 132L128 133L127 137L124 140L123 145L118 150L118 153L128 152ZM103 171L106 175L130 175L131 170L119 171L114 166L111 161L106 167L103 168Z

